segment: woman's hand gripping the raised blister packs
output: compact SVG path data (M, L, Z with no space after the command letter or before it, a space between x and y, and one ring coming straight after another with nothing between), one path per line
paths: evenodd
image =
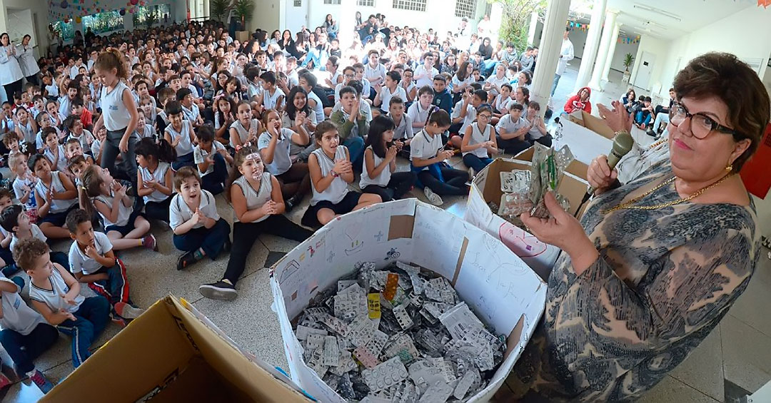
M576 274L581 274L599 257L594 243L587 237L581 223L562 210L554 193L546 193L544 203L551 218L530 217L530 213L522 213L520 220L538 240L564 250L573 260Z

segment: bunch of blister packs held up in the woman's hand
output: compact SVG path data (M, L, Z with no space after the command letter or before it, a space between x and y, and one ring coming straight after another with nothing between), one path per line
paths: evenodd
M500 173L500 203L489 203L500 217L521 226L521 213L530 212L533 217L548 218L549 210L544 204L547 192L553 192L561 206L568 210L570 203L557 193L564 171L574 160L573 153L563 146L555 151L540 143L534 144L533 162L530 170L512 170Z

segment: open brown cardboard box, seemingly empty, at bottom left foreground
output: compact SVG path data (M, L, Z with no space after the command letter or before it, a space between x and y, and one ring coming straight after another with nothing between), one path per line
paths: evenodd
M165 297L42 401L311 401L207 317Z

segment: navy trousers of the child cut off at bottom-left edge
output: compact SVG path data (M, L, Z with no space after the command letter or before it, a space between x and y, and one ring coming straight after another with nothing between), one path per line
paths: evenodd
M19 294L16 294L16 297L21 301ZM0 344L11 356L16 367L16 374L19 376L24 376L27 372L35 369L32 360L38 358L40 354L56 343L57 338L59 338L59 332L56 331L56 327L47 323L38 324L26 336L11 329L0 331Z

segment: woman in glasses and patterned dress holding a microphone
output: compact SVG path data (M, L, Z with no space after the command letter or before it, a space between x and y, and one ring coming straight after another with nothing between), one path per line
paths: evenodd
M619 183L598 156L588 170L594 200L581 221L551 193L551 218L520 216L563 253L544 316L497 400L635 400L707 337L749 284L760 229L739 171L768 126L769 95L727 53L696 57L674 87L668 159ZM599 109L628 136L632 119L621 102Z

